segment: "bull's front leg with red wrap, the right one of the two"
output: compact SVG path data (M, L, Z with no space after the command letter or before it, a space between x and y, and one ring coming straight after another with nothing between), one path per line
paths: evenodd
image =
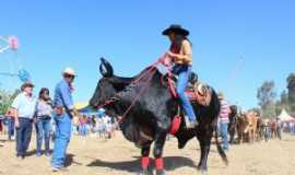
M163 161L163 148L166 141L166 137L169 129L169 122L162 122L157 129L154 141L154 158L155 158L155 167L156 175L165 175L164 161Z

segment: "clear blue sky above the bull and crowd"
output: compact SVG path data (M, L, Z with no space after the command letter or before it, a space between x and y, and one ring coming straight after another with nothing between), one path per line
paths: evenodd
M62 69L73 67L74 100L87 101L101 78L99 57L116 74L134 75L167 50L161 33L178 23L191 32L200 79L249 108L264 80L281 93L295 71L294 9L292 0L3 0L0 35L16 35L21 47L16 56L0 54L0 68L12 57L38 91L52 90Z

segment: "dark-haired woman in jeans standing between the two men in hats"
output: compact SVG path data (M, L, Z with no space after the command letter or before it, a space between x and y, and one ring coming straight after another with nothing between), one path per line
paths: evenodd
M52 117L52 102L49 96L49 90L43 88L39 92L37 102L36 124L36 139L37 139L37 156L42 155L42 142L45 141L45 154L50 155L50 120Z

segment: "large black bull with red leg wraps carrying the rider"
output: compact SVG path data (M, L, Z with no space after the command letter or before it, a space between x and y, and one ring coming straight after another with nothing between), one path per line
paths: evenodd
M120 128L126 139L141 148L142 158L149 158L151 144L154 142L154 158L156 160L162 159L166 136L169 132L172 119L177 114L179 103L172 96L167 84L161 81L163 78L161 72L156 70L150 82L140 81L133 84L131 82L144 73L146 69L134 78L120 78L114 75L110 63L105 59L102 59L99 69L103 78L98 81L90 105L97 107L106 104L111 97L117 96L118 101L105 106L110 116L121 116L132 104L142 88L148 85L141 98L135 102L127 117L123 118ZM190 139L197 137L201 149L198 168L206 172L211 139L213 131L216 132L220 102L216 93L212 90L212 101L209 106L201 106L194 103L192 105L198 116L199 126L188 130L182 122L175 136L178 139L179 149L182 149ZM216 137L215 135L215 139ZM220 155L227 164L225 152L221 149L220 143L216 143L216 145ZM161 170L161 167L156 168L157 175L164 174L164 170ZM149 174L145 167L142 167L142 174Z

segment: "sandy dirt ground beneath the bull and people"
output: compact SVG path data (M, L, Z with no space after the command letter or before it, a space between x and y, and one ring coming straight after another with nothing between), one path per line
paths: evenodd
M50 158L35 155L35 138L32 139L30 156L14 156L15 143L0 136L1 175L129 175L139 171L140 150L125 140L120 132L105 141L94 137L73 137L68 151L68 171L52 173ZM191 140L184 150L170 139L165 147L165 163L168 175L200 174L197 171L200 150ZM295 137L283 135L283 140L233 145L228 152L229 165L225 166L211 148L210 175L292 175L295 174Z

